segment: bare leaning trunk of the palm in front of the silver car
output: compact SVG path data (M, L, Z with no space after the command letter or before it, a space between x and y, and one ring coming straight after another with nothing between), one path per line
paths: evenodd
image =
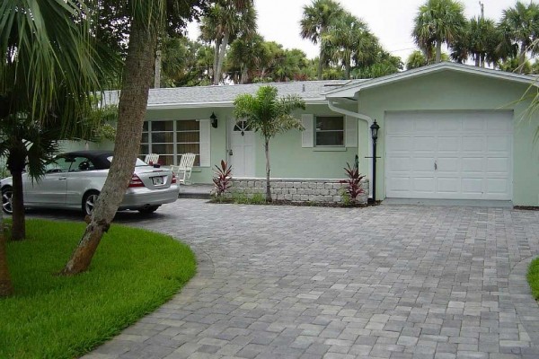
M129 34L128 57L119 97L118 134L114 160L102 193L88 220L83 238L73 252L63 275L84 272L105 232L109 230L135 170L142 125L146 115L148 91L153 78L153 54L157 45L157 30L135 17Z

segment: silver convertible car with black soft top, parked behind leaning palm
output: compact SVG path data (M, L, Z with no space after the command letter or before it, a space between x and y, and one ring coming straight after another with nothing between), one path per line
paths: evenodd
M22 175L25 207L82 209L85 215L93 205L105 183L112 161L110 151L78 151L58 155L47 166L45 175L31 180ZM12 213L12 178L0 182L2 208ZM150 214L165 204L178 199L180 191L170 168L150 166L139 159L135 173L119 206L119 210L138 210Z

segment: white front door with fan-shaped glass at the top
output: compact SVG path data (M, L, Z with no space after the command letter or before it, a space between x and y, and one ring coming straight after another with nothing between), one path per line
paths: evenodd
M228 163L232 166L234 178L254 177L254 131L247 127L245 121L228 121L229 150Z

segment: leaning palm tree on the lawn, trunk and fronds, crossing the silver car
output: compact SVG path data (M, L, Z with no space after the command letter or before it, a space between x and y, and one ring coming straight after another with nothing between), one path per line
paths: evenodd
M236 2L242 3L243 0ZM128 55L119 96L114 161L110 164L109 175L93 213L86 218L88 225L83 237L62 270L66 276L84 272L90 266L93 254L103 234L109 230L135 170L148 92L154 78L158 36L163 34L165 24L173 26L173 29L169 29L171 31L183 28L187 21L199 14L200 6L206 5L206 0L132 1L130 5L129 13L125 14L130 24Z

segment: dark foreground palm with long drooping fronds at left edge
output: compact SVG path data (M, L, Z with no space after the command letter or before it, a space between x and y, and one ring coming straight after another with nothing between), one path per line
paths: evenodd
M49 158L40 151L41 144L49 147L40 136L58 140L79 131L91 106L88 95L101 88L100 69L114 63L107 58L103 65L107 52L95 50L88 10L77 0L0 7L0 132L13 176L13 240L25 237L22 172L28 165L31 177L39 179Z

